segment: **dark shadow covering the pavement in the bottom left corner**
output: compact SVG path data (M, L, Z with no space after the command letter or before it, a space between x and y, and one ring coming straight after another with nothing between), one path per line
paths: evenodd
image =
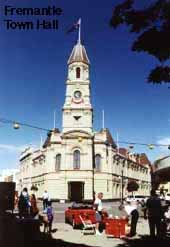
M57 229L53 229L57 231ZM0 247L93 247L53 239L40 231L40 222L33 219L16 219L11 214L0 215Z

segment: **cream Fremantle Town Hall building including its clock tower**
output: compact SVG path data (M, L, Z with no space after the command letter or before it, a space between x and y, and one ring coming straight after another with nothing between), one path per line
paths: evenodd
M108 129L95 132L91 104L90 61L79 41L68 60L62 130L53 129L40 150L20 157L18 190L47 190L59 200L92 200L102 191L112 200L127 194L128 181L139 184L138 194L149 195L150 162L118 149ZM144 157L144 154L143 154Z

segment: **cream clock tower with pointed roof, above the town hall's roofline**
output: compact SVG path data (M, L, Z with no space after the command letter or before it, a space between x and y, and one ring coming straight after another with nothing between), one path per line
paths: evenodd
M89 67L86 49L79 39L68 59L63 132L73 130L92 132L93 109L90 101Z

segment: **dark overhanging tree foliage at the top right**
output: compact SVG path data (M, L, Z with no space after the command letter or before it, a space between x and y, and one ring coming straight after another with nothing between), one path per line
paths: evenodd
M125 24L137 38L132 51L146 52L159 61L147 81L161 84L170 82L170 0L157 0L144 9L135 9L135 0L124 0L113 9L110 25Z

